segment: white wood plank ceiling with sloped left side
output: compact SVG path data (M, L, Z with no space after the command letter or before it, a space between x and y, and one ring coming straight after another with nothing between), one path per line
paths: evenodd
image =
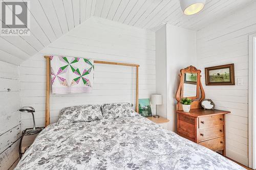
M29 7L31 35L1 36L0 60L19 65L91 16L152 31L164 23L200 30L252 1L207 0L203 11L186 16L179 0L33 0Z

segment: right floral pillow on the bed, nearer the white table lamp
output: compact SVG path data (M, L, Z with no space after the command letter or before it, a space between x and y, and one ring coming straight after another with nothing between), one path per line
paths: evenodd
M101 105L104 118L134 117L139 114L133 110L131 103L110 103Z

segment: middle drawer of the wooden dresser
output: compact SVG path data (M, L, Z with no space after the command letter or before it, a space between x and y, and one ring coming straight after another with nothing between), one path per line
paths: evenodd
M198 140L207 140L224 135L223 126L216 126L211 128L199 129Z

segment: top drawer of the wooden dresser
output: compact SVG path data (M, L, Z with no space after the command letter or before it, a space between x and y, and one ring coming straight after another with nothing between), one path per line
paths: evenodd
M199 117L199 129L224 125L223 115Z

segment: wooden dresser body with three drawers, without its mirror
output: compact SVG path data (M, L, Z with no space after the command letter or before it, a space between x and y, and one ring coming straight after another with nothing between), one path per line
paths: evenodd
M229 111L191 109L177 110L178 134L225 156L225 114Z

